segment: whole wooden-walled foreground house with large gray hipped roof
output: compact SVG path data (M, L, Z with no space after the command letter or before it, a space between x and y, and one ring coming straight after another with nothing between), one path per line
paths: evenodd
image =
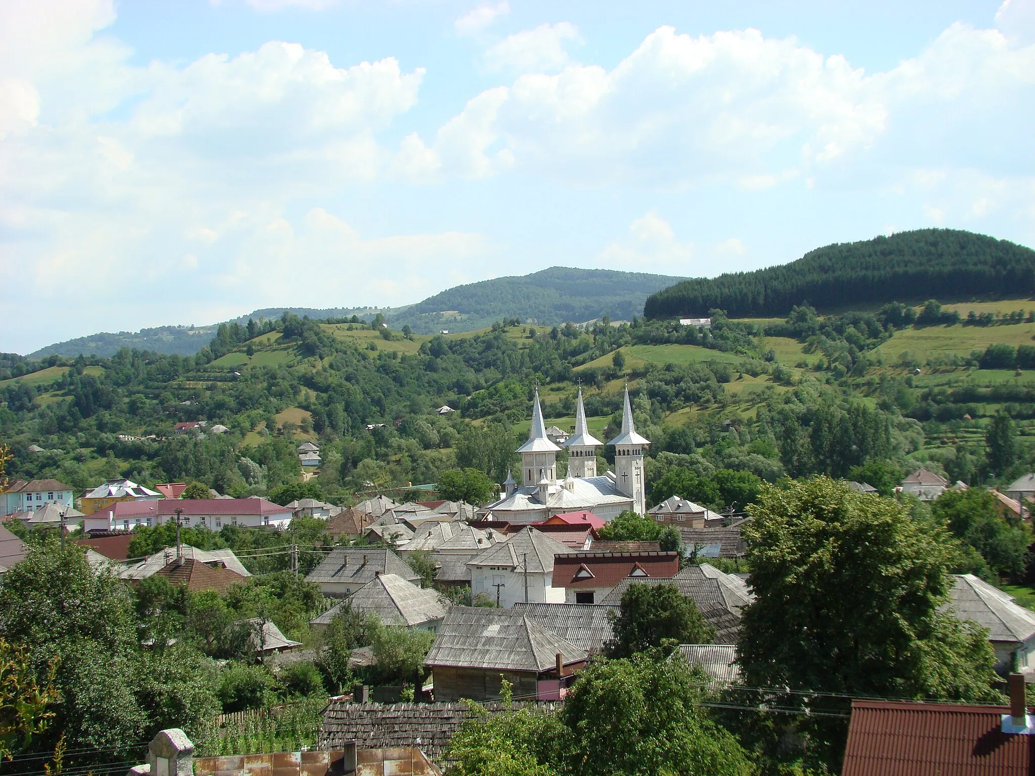
M452 606L424 665L436 700L499 698L502 679L514 697L557 700L588 659L522 609Z

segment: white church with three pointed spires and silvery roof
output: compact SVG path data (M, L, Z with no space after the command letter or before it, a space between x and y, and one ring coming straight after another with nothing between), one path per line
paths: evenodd
M522 458L522 484L507 477L499 501L483 508L490 519L507 520L527 525L544 520L562 512L589 510L605 520L612 520L625 510L644 514L644 454L650 442L637 434L629 405L629 390L625 389L625 407L622 413L622 430L608 443L615 446L616 472L596 473L596 451L603 443L595 439L586 426L586 408L583 407L582 388L575 409L575 430L562 446L568 451L568 475L557 479L557 453L561 447L550 441L539 391L535 392L532 408L532 427L528 442L518 448Z

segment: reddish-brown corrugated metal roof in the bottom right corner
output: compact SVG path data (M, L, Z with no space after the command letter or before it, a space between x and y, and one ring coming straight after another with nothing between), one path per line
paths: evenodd
M1028 776L1035 737L1002 732L998 706L853 700L842 776Z

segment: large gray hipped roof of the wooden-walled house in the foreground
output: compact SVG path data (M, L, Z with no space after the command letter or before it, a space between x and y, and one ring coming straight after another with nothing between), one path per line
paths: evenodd
M535 622L523 609L452 606L439 626L425 665L543 671L588 655Z

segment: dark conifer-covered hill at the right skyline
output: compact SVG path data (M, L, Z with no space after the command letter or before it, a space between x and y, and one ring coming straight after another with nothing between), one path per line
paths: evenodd
M644 315L697 317L718 308L731 318L786 316L804 302L823 310L1032 292L1035 250L971 232L923 229L827 245L753 272L683 280L651 296Z

